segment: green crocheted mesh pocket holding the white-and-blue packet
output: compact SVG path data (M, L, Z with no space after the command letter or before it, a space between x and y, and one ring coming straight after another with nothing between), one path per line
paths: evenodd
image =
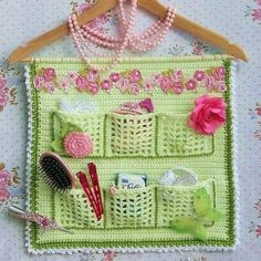
M106 190L107 228L155 227L155 188Z

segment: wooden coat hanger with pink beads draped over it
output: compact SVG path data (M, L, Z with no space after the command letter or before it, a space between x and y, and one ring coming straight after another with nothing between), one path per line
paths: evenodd
M93 8L79 15L79 24L83 25L92 19L97 18L102 13L105 13L106 11L113 9L117 3L117 0L98 0ZM138 0L138 6L160 18L165 18L167 13L167 8L160 4L157 0ZM227 54L230 54L246 62L248 61L247 52L239 44L230 43L229 39L225 38L223 35L211 31L210 29L207 29L200 24L197 24L178 13L176 13L173 25L190 34L194 34L215 46L222 49ZM19 46L17 50L14 50L9 58L9 64L11 65L17 62L21 62L30 54L46 46L48 44L58 41L69 33L70 32L67 23L59 25L58 28L31 40L27 43L27 45Z

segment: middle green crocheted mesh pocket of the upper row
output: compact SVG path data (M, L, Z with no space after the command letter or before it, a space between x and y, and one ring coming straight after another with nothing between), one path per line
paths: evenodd
M106 156L156 156L156 118L145 115L107 115Z

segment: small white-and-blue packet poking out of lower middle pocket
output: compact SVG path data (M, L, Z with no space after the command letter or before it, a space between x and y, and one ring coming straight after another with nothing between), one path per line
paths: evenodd
M119 188L135 189L145 188L147 185L147 176L144 174L118 174Z

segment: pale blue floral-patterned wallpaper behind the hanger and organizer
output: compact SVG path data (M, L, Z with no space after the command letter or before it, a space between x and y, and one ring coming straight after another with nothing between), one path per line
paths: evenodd
M261 257L261 0L161 0L179 13L239 42L249 53L249 63L239 63L237 75L237 117L239 122L240 241L231 252L175 253L79 253L41 255L27 253L23 223L8 215L11 205L24 206L27 97L23 64L8 66L10 52L28 40L66 20L70 12L82 13L95 1L38 0L0 1L0 260L260 260ZM138 13L136 29L153 21ZM7 22L8 21L8 22ZM100 32L117 30L117 10L90 22ZM144 55L203 55L222 53L200 39L173 30L158 49ZM41 50L35 56L77 56L66 38Z

